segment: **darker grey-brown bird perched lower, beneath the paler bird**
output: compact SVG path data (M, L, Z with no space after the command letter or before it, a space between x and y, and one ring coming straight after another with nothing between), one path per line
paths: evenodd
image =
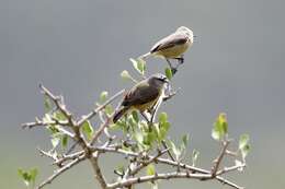
M168 83L169 80L161 73L152 74L137 83L125 94L121 108L113 117L113 122L115 123L129 110L137 109L144 114L145 110L152 108Z

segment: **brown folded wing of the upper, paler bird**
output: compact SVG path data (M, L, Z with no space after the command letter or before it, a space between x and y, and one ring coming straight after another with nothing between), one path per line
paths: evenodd
M174 33L166 38L159 40L150 50L151 54L157 52L159 50L171 48L175 45L182 45L187 42L187 36L184 34Z

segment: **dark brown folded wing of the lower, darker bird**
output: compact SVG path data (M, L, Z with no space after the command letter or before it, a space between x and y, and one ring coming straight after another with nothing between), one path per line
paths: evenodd
M159 96L159 90L148 84L133 87L122 103L123 106L142 105L155 101Z

